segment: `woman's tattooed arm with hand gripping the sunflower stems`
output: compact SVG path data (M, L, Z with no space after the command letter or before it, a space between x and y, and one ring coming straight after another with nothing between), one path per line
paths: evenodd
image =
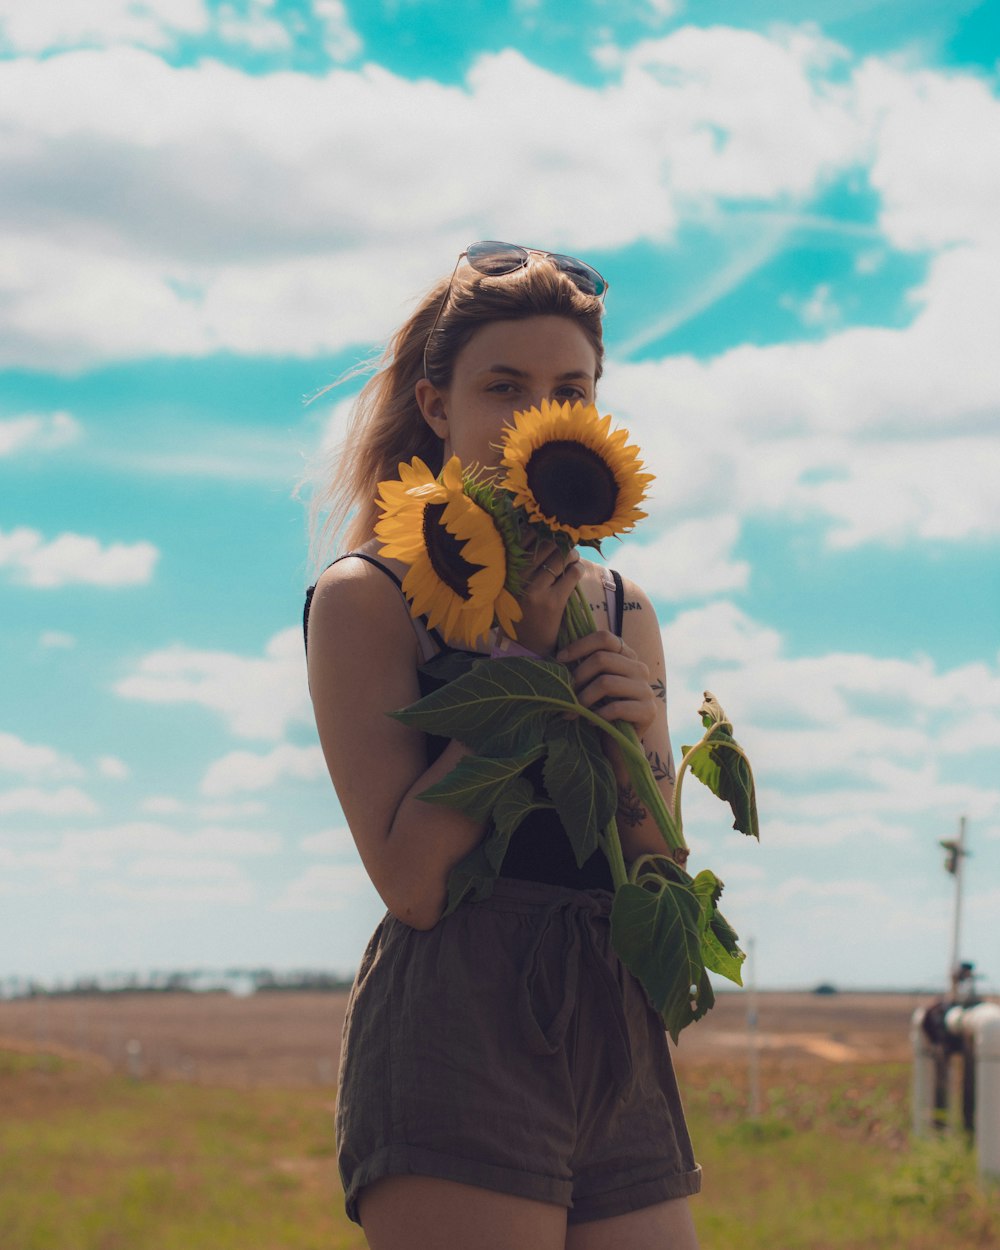
M570 664L576 695L608 720L629 721L639 735L668 806L674 801L674 760L666 724L666 666L656 612L648 596L625 579L621 644L608 629L582 638L556 659ZM624 649L622 649L624 646ZM605 739L619 781L618 831L625 860L662 852L662 834L639 800L618 744Z

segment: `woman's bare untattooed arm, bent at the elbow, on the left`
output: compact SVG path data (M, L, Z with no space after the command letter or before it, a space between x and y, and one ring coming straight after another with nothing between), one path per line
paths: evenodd
M420 698L416 664L412 625L389 578L361 560L328 569L309 614L309 685L326 765L386 908L430 929L448 874L484 828L418 798L466 751L450 742L428 768L424 735L388 715Z

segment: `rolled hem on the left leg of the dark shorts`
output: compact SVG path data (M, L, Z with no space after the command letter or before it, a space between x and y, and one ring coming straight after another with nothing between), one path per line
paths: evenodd
M424 1146L395 1145L376 1150L355 1168L350 1189L344 1194L348 1216L355 1224L361 1222L358 1214L361 1190L386 1176L434 1176L438 1180L476 1185L479 1189L491 1189L514 1198L530 1198L555 1206L568 1208L572 1202L572 1181L561 1180L559 1176L541 1176L516 1168L484 1164L476 1159L448 1155Z

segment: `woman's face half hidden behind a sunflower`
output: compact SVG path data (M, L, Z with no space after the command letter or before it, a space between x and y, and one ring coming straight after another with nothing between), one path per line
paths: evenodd
M491 321L455 358L451 381L416 384L424 420L444 441L445 461L495 469L496 444L514 412L541 400L594 402L598 356L580 325L565 316Z

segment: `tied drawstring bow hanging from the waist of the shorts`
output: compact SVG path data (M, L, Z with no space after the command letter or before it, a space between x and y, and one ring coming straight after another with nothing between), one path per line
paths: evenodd
M606 900L591 894L580 891L551 904L542 914L520 978L518 1019L528 1049L535 1055L554 1055L564 1044L584 971L595 986L611 1072L624 1096L632 1079L632 1052L616 975L618 961L615 966L609 962L598 936L598 924L608 922ZM555 985L550 984L552 975ZM559 1009L546 1028L546 1006L556 1000Z

